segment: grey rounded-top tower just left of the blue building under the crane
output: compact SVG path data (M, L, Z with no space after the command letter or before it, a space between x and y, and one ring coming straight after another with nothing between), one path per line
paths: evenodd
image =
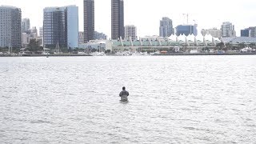
M174 34L173 21L170 18L163 17L160 21L159 36L170 37L171 34Z

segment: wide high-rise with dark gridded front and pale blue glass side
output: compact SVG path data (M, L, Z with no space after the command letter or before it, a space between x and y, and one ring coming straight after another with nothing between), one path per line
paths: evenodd
M46 7L43 43L46 47L78 47L78 6Z

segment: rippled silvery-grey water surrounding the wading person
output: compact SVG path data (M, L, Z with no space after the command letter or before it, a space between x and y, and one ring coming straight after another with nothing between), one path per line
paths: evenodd
M0 112L0 143L255 143L256 56L0 58Z

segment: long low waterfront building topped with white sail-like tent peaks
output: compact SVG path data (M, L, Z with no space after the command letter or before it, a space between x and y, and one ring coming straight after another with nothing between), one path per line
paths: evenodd
M135 41L127 39L112 40L112 51L118 52L123 50L130 51L154 51L154 50L174 50L175 48L186 48L187 50L202 50L203 48L214 49L221 40L214 38L210 34L202 36L198 34L180 34L179 36L172 34L169 38L159 36L146 36Z

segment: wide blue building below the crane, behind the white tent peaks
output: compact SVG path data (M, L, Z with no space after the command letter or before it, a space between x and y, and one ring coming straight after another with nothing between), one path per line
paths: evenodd
M176 35L185 34L186 36L190 34L194 34L194 36L198 35L198 25L178 25L176 27Z

